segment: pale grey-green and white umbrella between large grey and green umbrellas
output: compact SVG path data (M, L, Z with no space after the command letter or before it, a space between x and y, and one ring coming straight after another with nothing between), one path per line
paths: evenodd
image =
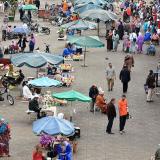
M80 19L80 20L76 20L76 21L61 25L61 28L66 28L71 30L72 29L77 29L77 30L96 29L97 24L94 22L89 22L89 21Z

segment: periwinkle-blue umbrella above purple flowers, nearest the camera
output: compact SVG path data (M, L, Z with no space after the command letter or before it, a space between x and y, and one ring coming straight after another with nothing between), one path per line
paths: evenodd
M37 135L46 133L49 135L64 135L70 136L75 132L71 122L53 116L41 118L33 122L33 132Z

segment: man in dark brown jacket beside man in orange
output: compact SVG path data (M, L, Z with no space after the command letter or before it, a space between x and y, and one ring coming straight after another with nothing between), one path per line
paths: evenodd
M112 98L107 106L108 125L106 128L106 132L108 134L114 134L112 132L112 125L113 125L114 118L116 117L115 103L116 103L116 99Z

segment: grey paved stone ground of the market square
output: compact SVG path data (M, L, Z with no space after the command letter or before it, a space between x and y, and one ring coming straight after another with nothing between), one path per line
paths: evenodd
M50 26L48 23L45 25ZM53 53L61 53L65 44L64 41L57 41L56 30L52 29L50 36L36 36L37 46L44 50L45 42L51 44ZM96 32L87 32L95 35ZM83 33L84 34L84 33ZM105 42L105 40L102 38ZM8 42L2 44L6 45ZM75 68L75 83L69 89L78 90L88 94L88 88L94 83L101 86L109 101L115 97L117 100L122 94L122 85L118 79L125 54L121 53L121 47L117 53L107 53L106 48L88 49L88 67L82 68L82 62L72 62ZM105 60L108 57L109 60ZM127 98L129 101L130 113L133 119L127 121L125 135L118 133L118 117L113 126L115 135L105 133L107 117L101 113L93 115L89 112L89 105L75 102L72 109L76 109L73 116L74 122L81 128L81 138L78 141L78 152L74 160L149 160L160 143L160 99L154 97L154 103L146 103L146 95L143 85L146 75L150 69L155 69L157 57L146 55L135 55L135 67L132 71L131 82ZM112 62L117 71L117 80L112 93L107 92L105 81L105 67ZM33 76L34 70L24 67L27 76ZM31 72L32 71L32 72ZM52 91L60 92L68 88L53 88ZM13 92L14 96L18 92ZM69 115L70 106L58 108L66 115ZM16 101L14 106L0 102L0 115L7 119L12 128L12 139L10 141L11 158L9 160L31 160L33 147L38 143L38 137L32 133L32 122L30 122L25 111L27 104ZM2 158L7 160L7 158Z

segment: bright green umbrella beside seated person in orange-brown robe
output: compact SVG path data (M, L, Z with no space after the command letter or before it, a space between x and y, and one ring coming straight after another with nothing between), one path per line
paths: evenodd
M91 102L91 98L77 91L71 90L67 92L52 94L52 97L67 101Z

